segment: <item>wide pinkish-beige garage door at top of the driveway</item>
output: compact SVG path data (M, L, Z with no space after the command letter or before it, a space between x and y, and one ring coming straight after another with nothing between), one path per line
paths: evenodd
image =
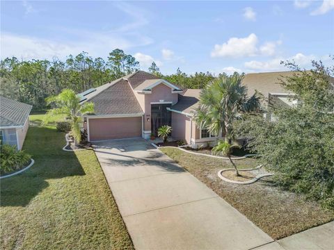
M90 141L141 137L142 117L89 119Z

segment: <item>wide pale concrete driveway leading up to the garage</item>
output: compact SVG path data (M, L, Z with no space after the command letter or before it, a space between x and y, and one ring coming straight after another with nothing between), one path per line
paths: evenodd
M266 249L273 242L149 142L93 147L136 249Z

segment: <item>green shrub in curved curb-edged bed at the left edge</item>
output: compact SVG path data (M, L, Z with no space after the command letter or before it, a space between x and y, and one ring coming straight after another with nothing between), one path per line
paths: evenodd
M17 151L15 146L4 144L0 151L0 174L17 171L29 164L31 156L24 151Z

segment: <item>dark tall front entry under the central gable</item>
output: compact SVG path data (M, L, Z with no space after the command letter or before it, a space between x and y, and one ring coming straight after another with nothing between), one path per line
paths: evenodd
M151 104L151 131L157 136L158 128L163 125L171 126L172 115L167 108L172 104Z

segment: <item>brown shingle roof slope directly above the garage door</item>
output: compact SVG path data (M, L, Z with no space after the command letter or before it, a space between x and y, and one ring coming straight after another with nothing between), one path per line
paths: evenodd
M124 79L103 85L103 88L88 101L94 103L95 115L143 113L129 83Z

